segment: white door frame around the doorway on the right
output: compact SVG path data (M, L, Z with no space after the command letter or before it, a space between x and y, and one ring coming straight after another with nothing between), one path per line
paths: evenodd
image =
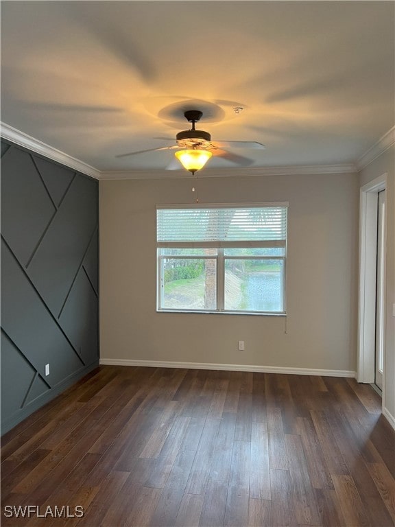
M357 381L374 382L374 349L376 333L376 243L377 194L387 189L387 173L363 185L359 202L359 306ZM387 209L385 211L387 224ZM386 238L385 238L386 239ZM386 244L385 244L386 245ZM385 258L385 248L384 248ZM385 260L384 260L385 280ZM385 293L384 293L385 294ZM384 300L385 301L385 300ZM385 320L384 320L385 325ZM385 326L384 326L385 335ZM384 343L385 349L385 343ZM385 353L384 353L385 367ZM385 375L384 375L385 377ZM385 379L383 379L385 382ZM385 386L383 386L383 395ZM384 401L383 401L384 403Z

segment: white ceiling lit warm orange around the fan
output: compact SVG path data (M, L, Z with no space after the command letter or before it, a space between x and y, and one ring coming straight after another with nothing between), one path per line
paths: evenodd
M102 172L165 168L171 150L116 156L173 145L187 109L264 143L233 151L252 167L356 163L394 126L394 7L2 1L1 121Z

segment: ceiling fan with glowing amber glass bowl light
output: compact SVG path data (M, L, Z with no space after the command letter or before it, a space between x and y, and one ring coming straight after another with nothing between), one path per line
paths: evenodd
M175 156L178 161L180 161L185 169L195 174L197 170L204 167L211 156L219 156L242 166L248 166L254 162L248 157L228 152L225 150L226 148L258 148L261 150L265 148L265 145L256 141L211 141L211 134L204 130L196 130L195 128L195 124L200 121L202 115L203 113L200 110L187 110L184 112L184 117L189 123L192 123L192 128L178 132L176 135L176 145L129 152L128 154L120 154L117 157L134 156L136 154L143 154L144 152L159 152L160 150L177 150ZM174 170L178 169L179 166L178 163L176 165L170 163L167 169Z

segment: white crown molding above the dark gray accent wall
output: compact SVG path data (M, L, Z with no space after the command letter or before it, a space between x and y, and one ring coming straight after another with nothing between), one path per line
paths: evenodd
M64 152L61 152L60 150L43 143L43 141L34 139L34 137L27 135L20 130L16 130L16 128L13 128L9 124L3 123L1 121L0 135L3 137L3 139L8 139L8 141L12 141L12 143L16 143L17 145L23 146L28 150L32 150L32 152L36 152L36 154L40 154L52 159L52 161L57 161L62 165L66 165L77 172L82 172L82 174L86 174L86 176L91 176L95 179L100 178L100 171L94 167L91 167L91 165L87 165L79 159L75 159L68 154L64 154Z

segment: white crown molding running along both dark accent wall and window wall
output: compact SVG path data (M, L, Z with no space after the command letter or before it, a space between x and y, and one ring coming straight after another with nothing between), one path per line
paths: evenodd
M105 180L125 180L125 179L184 179L188 174L184 169L181 170L124 170L114 172L101 172L100 170L87 165L79 159L57 150L56 148L34 139L20 130L16 130L9 124L0 121L0 135L12 143L16 143L36 154L45 156L53 161L57 161L77 172L82 172L86 176L95 179ZM388 147L387 147L388 148ZM246 176L306 176L319 174L355 174L358 168L353 163L339 165L290 165L283 167L235 167L222 169L204 169L199 173L199 178L228 178Z

